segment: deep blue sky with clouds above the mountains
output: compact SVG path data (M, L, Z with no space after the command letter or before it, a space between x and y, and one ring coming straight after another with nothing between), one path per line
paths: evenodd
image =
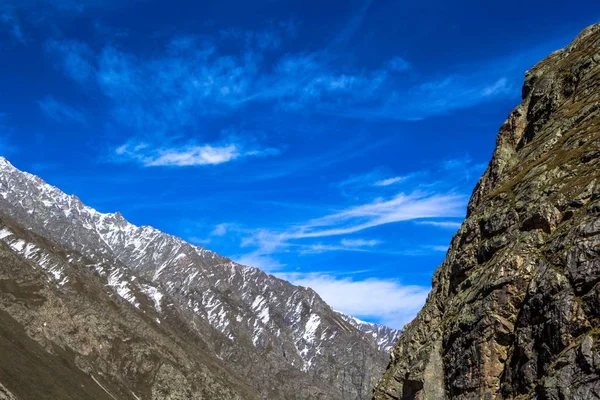
M0 153L401 327L524 72L599 16L591 0L8 0Z

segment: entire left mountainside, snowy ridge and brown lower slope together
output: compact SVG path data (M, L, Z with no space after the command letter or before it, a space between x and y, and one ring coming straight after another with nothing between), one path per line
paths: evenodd
M399 336L5 159L0 255L0 399L367 399Z

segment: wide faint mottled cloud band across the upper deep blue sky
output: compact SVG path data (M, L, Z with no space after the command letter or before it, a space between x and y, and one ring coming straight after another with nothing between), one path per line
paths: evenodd
M411 83L403 73L412 66L397 56L364 69L338 63L325 49L284 52L286 29L174 37L153 56L111 45L94 50L73 40L52 39L46 48L67 76L111 100L118 121L159 134L255 104L286 112L415 120L512 93L500 69ZM232 37L242 40L232 44Z

